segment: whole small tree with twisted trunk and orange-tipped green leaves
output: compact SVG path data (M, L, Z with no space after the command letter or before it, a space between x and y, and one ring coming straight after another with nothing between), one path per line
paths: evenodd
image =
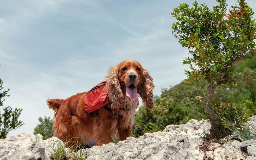
M238 0L238 6L232 6L229 13L226 0L217 2L219 5L213 10L195 1L194 7L180 4L171 13L177 19L172 24L172 33L192 55L183 60L192 70L185 70L185 74L195 82L206 80L209 84L204 108L212 124L211 138L217 137L214 130L222 130L220 117L211 105L214 90L223 84L232 88L236 81L232 74L234 64L255 56L256 37L254 12L244 0Z

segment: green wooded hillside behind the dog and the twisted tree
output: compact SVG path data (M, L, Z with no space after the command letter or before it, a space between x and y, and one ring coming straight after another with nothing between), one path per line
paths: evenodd
M228 88L226 84L216 88L212 105L220 105L220 102L225 99L231 105L239 104L238 115L245 115L247 118L255 115L256 58L238 62L233 74L236 79L234 79L231 88ZM162 94L155 96L155 108L153 110L146 109L144 105L140 106L133 125L133 136L137 137L146 132L162 131L168 124L184 124L190 119L207 119L202 106L208 85L206 81L196 83L188 80L191 82L182 81L169 89L163 88ZM223 114L229 113L233 114L234 111L226 110Z

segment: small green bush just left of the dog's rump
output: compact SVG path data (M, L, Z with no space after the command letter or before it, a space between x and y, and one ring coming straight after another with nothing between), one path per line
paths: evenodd
M38 121L40 122L40 124L37 124L37 126L34 128L33 133L41 134L44 140L51 138L54 132L51 117L44 116L44 119L42 117L39 117Z

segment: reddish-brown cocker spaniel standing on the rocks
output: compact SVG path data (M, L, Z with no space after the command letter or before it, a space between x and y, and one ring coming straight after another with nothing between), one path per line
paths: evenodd
M55 137L86 146L91 140L95 145L102 145L112 142L113 137L125 140L132 136L138 96L148 109L154 107L153 78L139 62L124 60L110 67L105 80L109 102L94 112L84 109L87 92L66 100L46 100L48 107L55 111L52 120Z

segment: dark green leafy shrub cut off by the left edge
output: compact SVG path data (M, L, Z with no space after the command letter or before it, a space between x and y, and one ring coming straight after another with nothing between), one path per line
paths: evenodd
M3 107L4 97L9 96L7 92L10 90L8 89L7 91L1 92L3 88L3 81L0 78L0 107ZM8 132L17 129L24 124L22 121L18 120L21 111L22 109L20 108L12 110L10 106L4 107L3 113L1 113L0 110L0 138L6 138Z

